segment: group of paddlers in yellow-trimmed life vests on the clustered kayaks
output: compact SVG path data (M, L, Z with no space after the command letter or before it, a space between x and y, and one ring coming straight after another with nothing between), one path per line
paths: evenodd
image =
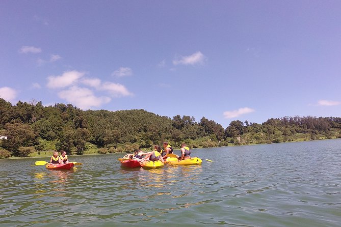
M173 148L167 143L163 143L164 149L160 146L154 146L154 150L150 152L143 152L141 149L135 150L134 154L127 154L123 158L127 159L135 159L140 162L151 160L151 161L162 161L165 162L165 159L169 157L169 154L173 154ZM175 157L181 161L185 159L191 158L191 150L189 147L186 146L185 143L181 144L181 155L175 155ZM173 156L174 157L174 156Z

